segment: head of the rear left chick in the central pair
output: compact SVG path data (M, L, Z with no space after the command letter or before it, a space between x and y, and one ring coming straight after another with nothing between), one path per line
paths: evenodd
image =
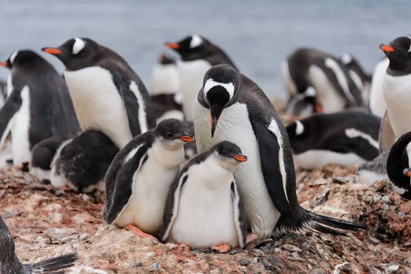
M193 142L194 136L187 132L186 125L177 119L165 119L154 129L155 137L168 149L180 149L186 142Z

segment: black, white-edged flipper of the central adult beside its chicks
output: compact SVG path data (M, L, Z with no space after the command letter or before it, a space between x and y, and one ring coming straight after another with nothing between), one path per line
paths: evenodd
M281 214L288 216L292 212L286 195L286 184L290 180L290 173L286 171L288 166L285 166L283 151L284 138L288 141L288 136L280 131L276 123L278 122L273 119L271 125L266 127L258 121L252 121L260 149L262 175L267 191L275 208Z

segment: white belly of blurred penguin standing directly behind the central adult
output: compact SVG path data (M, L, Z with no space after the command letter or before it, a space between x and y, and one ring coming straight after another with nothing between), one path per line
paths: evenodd
M192 122L194 105L199 90L203 86L204 74L211 68L211 64L204 60L178 62L179 84L182 90L182 108L186 121Z

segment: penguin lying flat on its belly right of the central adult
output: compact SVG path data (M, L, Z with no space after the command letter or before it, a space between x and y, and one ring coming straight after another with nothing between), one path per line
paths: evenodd
M292 155L303 169L354 166L379 155L381 119L366 112L316 114L286 127Z

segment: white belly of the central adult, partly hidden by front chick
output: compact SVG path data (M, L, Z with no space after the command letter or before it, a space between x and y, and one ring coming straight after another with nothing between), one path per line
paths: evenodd
M247 216L247 224L252 232L257 233L261 238L271 236L280 213L266 189L258 142L249 121L247 105L234 103L225 108L216 126L214 138L211 138L210 110L196 101L195 136L197 136L196 143L199 153L208 151L213 145L223 140L228 140L238 145L242 153L247 155L249 160L240 164L234 171Z

